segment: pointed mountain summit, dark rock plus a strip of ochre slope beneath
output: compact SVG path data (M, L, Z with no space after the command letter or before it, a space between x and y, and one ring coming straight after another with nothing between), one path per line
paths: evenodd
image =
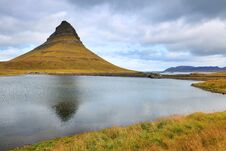
M59 26L56 27L55 32L50 35L50 37L47 39L47 42L55 40L68 40L70 38L72 38L72 40L81 42L80 37L78 36L74 27L64 20Z

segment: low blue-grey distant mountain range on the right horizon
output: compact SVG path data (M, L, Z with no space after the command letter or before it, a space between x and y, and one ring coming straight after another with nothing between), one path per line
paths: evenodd
M220 72L226 71L226 67L220 68L218 66L177 66L166 69L163 72Z

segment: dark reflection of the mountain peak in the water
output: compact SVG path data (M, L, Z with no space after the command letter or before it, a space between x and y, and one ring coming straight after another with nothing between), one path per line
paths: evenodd
M76 113L79 107L76 79L72 77L56 77L55 87L52 91L55 95L50 96L50 102L54 102L52 109L55 110L56 115L62 122L69 121Z

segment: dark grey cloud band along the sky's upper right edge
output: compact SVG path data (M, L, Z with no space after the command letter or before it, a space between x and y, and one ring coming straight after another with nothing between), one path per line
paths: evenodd
M225 0L68 0L76 6L91 8L108 5L114 13L140 15L150 22L187 18L200 21L208 18L226 18Z

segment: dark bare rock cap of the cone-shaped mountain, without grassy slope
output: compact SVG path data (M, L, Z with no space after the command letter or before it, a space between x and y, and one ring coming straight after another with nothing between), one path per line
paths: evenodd
M73 26L70 23L68 23L67 21L62 21L61 24L56 27L55 32L52 35L50 35L50 37L47 39L47 41L50 41L56 37L61 37L61 36L73 36L78 41L81 41L80 37L76 33Z

